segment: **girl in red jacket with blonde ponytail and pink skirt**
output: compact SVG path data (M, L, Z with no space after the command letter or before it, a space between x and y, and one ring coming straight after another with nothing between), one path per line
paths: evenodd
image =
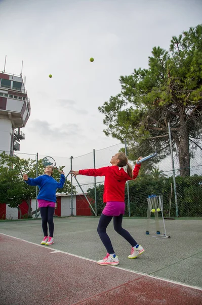
M142 157L140 157L138 161L140 159L142 159ZM106 205L102 211L97 231L107 250L107 255L102 260L98 261L98 264L100 265L119 264L111 240L106 233L106 228L112 220L112 217L114 230L123 236L132 246L131 254L128 258L136 258L144 252L143 247L138 245L131 234L122 228L123 215L125 214L125 184L127 180L132 180L137 177L140 164L136 164L133 170L124 153L115 154L111 158L110 163L112 166L71 171L73 176L105 176L103 201L106 202ZM124 170L124 166L127 166L127 172Z

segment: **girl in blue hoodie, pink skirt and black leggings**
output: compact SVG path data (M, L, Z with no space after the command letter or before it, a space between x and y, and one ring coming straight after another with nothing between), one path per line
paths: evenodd
M23 179L29 186L38 186L39 193L37 196L38 207L40 208L42 216L42 228L44 232L44 239L41 245L52 245L54 243L53 232L54 223L53 215L56 203L56 190L62 189L65 182L64 172L58 170L61 173L60 182L57 182L53 177L53 167L47 166L45 168L45 174L38 176L37 178L29 178L27 174L23 175ZM49 224L49 236L48 236L48 224Z

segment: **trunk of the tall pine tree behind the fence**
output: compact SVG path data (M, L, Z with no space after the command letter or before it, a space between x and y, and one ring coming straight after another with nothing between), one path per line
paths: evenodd
M180 141L179 141L179 164L180 176L190 176L190 153L189 153L189 131L185 121L185 111L180 111Z

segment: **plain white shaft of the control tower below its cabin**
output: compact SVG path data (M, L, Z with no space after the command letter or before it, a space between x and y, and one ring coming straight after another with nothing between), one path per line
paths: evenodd
M5 150L10 153L11 135L12 124L10 119L0 118L0 150Z

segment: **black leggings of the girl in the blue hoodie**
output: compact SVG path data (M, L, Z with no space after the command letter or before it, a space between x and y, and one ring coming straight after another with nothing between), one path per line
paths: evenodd
M42 229L44 232L44 236L48 236L48 225L49 223L49 236L53 237L54 231L54 223L53 223L53 215L54 215L55 207L47 206L40 207L40 212L42 216Z

